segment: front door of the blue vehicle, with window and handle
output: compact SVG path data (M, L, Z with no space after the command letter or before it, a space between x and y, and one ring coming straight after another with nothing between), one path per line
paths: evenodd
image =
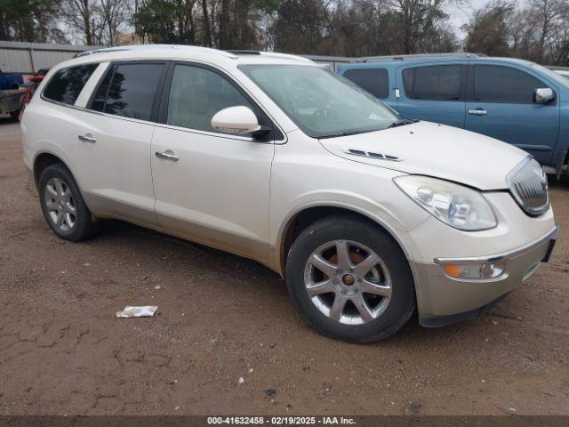
M559 105L533 103L533 90L548 85L501 65L475 65L470 76L466 129L516 145L548 164L557 144Z

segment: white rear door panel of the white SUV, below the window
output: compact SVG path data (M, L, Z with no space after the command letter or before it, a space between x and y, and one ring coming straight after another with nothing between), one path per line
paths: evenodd
M156 224L150 171L154 125L77 110L74 173L93 214ZM93 141L80 141L79 136Z

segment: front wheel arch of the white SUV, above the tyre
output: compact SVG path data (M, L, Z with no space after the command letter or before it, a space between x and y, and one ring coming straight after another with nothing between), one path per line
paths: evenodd
M284 267L288 252L293 245L294 239L302 232L302 230L306 230L310 224L322 218L342 214L359 218L365 222L370 222L375 227L385 231L401 248L405 254L405 258L407 260L413 260L408 248L404 245L403 239L399 236L396 230L393 229L393 227L381 218L367 212L365 209L358 208L353 205L345 205L342 203L319 203L302 206L284 221L284 226L281 227L276 243L276 260L279 268L278 272L284 276ZM410 268L412 268L411 262Z

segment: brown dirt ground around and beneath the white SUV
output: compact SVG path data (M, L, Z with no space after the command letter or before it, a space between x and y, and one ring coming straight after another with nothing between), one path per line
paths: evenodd
M60 240L21 156L0 119L0 415L569 415L567 181L551 262L496 309L354 345L255 262L119 222Z

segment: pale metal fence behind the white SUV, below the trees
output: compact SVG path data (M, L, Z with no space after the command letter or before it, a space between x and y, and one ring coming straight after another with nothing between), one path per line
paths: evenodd
M97 46L71 44L20 43L0 41L0 69L4 73L34 74L42 68L52 68L63 60L73 58L78 52L97 49ZM302 55L334 71L353 58L338 56Z

